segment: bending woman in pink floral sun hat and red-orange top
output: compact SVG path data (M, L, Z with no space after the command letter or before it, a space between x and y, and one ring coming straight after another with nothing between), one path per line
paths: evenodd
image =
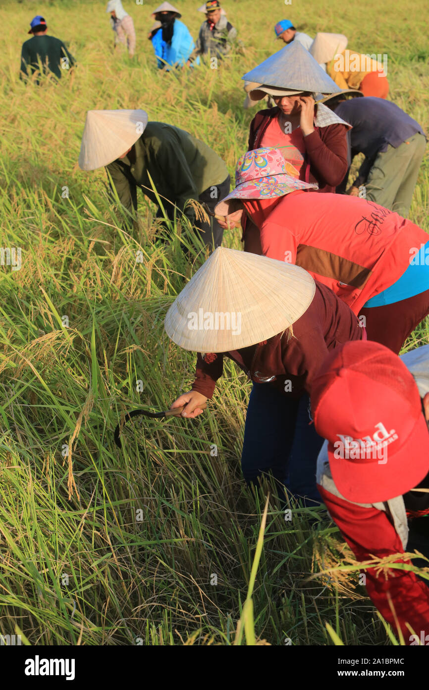
M399 353L429 313L428 235L372 201L287 188L285 166L276 149L248 151L216 213L244 208L264 255L308 270L365 317L369 339Z

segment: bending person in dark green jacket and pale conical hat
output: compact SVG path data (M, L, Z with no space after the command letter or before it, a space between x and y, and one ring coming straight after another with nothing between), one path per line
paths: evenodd
M212 213L229 192L227 166L188 132L163 122L148 122L144 110L89 110L79 166L82 170L106 167L127 212L128 227L136 219L137 188L141 188L158 205L157 218L165 217L160 200L170 221L183 213L205 244L220 246L223 230L216 219L197 218L189 200L206 204Z

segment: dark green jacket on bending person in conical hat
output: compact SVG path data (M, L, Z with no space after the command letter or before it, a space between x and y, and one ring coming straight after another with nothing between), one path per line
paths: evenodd
M134 150L134 163L126 156L107 166L119 200L129 213L137 210L138 186L158 203L148 172L166 213L170 215L171 204L176 204L191 223L195 221L195 211L189 204L185 208L186 202L198 199L203 191L228 177L224 161L207 144L163 122L148 122Z

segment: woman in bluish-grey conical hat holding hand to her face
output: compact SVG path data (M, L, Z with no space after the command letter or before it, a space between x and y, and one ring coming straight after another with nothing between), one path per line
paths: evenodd
M269 95L275 101L274 108L260 110L251 121L249 150L279 148L295 168L293 175L317 183L319 192L335 193L348 170L350 125L326 106L315 103L320 93L337 92L335 82L295 41L243 79L261 84L249 92L250 99L258 101ZM237 219L239 214L236 223ZM258 231L249 219L244 219L243 229L244 248L260 253Z

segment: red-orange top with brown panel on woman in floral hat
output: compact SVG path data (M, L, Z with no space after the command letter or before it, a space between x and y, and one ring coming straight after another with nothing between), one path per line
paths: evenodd
M262 254L308 270L355 314L393 285L428 235L367 199L292 192L260 225Z

